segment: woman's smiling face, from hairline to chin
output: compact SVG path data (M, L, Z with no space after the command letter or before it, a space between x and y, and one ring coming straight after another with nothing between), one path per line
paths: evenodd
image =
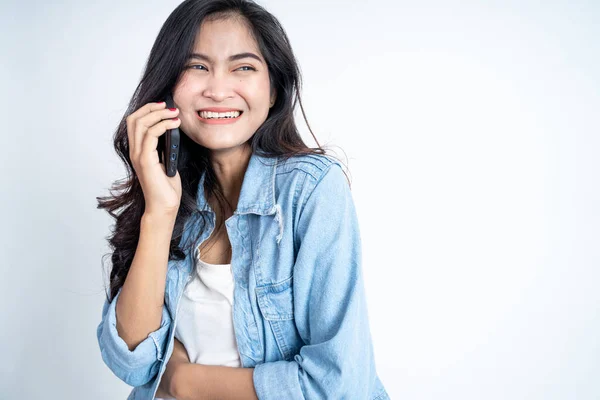
M243 145L267 119L271 100L269 71L248 28L235 20L203 22L183 75L173 90L180 128L194 142L217 152ZM230 59L242 53L254 54ZM274 95L274 93L272 93ZM232 119L205 119L206 108L242 113ZM216 122L216 123L215 123ZM223 123L228 122L228 123Z

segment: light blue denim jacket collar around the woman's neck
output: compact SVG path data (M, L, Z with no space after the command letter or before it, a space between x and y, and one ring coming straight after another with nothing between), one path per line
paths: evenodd
M252 153L244 174L242 189L234 214L275 214L275 169L278 158L267 158ZM204 197L204 175L200 177L196 206L199 211L214 210Z

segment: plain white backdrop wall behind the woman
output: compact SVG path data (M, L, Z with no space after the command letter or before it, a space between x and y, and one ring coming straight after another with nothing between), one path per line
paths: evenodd
M600 398L600 4L259 3L348 157L390 396ZM124 177L112 135L178 4L2 2L2 399L131 390L95 336L96 196Z

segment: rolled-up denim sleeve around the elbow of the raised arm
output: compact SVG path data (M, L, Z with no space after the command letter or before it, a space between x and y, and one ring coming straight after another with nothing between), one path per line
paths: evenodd
M116 304L121 289L112 300L104 301L102 321L96 330L104 363L122 381L130 386L142 386L158 373L167 342L171 316L163 305L160 327L130 351L117 332Z

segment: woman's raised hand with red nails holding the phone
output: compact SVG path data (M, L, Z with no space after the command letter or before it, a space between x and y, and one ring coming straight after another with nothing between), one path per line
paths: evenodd
M129 158L144 192L145 214L176 215L181 201L179 171L167 176L156 149L159 136L181 124L180 119L172 119L179 115L179 109L166 107L164 102L147 103L126 119Z

